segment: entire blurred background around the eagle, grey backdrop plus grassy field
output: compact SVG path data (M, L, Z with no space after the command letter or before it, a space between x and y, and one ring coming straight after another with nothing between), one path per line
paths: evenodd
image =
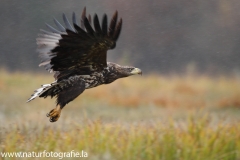
M50 123L54 99L25 103L54 81L38 67L36 38L85 6L108 19L118 10L123 28L108 61L143 76L84 91ZM239 0L0 0L0 152L240 159L239 8Z

